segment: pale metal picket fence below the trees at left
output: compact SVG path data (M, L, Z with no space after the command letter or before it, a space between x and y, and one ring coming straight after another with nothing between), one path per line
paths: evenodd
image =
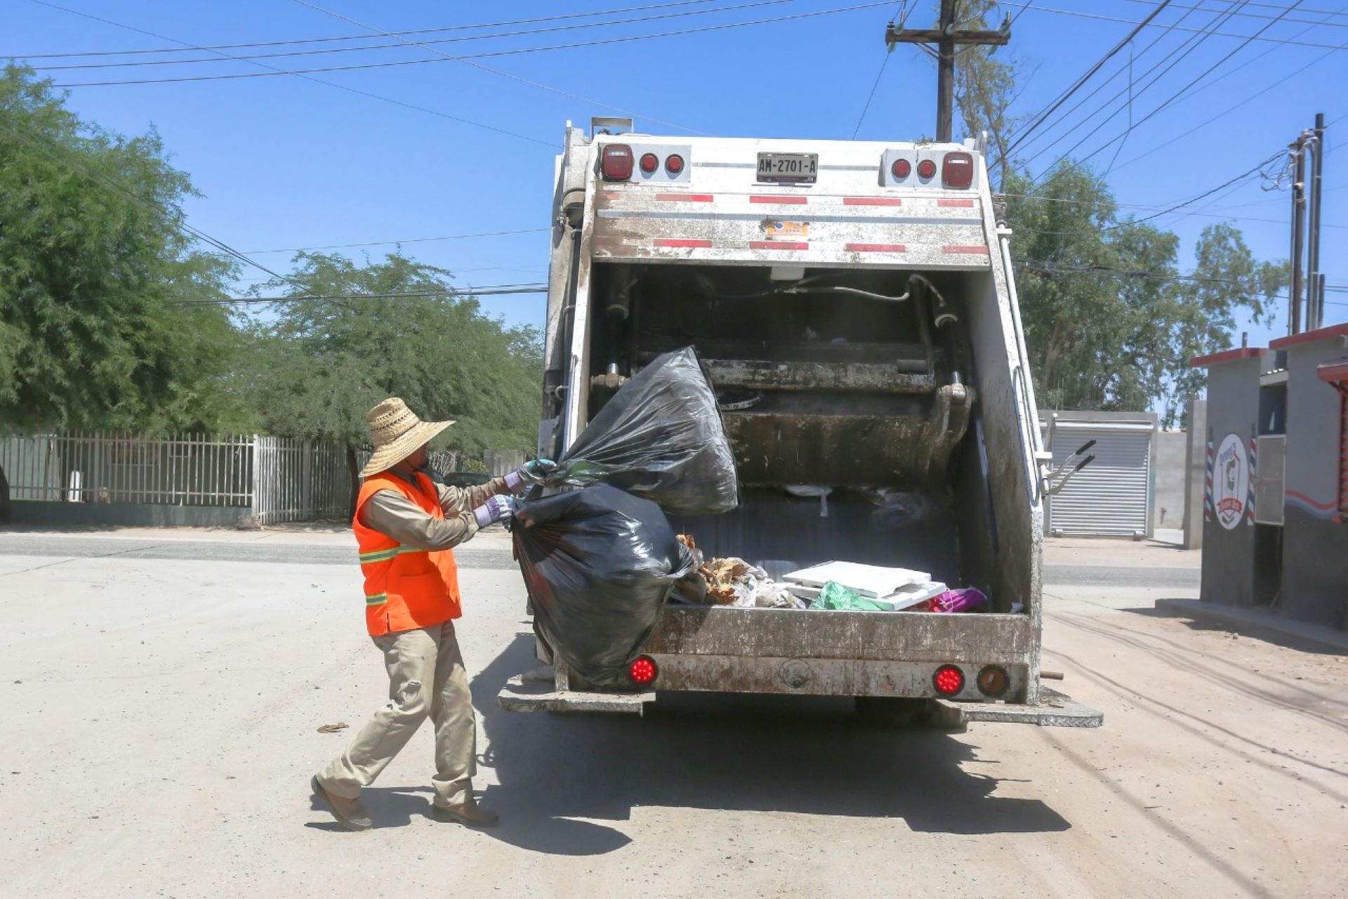
M338 443L257 435L0 437L9 499L251 509L259 523L345 515L350 481Z

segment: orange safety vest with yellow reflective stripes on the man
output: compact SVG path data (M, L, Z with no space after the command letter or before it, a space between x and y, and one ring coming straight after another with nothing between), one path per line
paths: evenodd
M365 478L356 497L356 546L365 576L365 625L371 636L443 624L464 612L458 600L458 566L450 550L427 553L403 546L387 534L360 523L365 501L379 491L396 491L431 518L443 519L439 496L429 477L418 472L417 487L390 472Z

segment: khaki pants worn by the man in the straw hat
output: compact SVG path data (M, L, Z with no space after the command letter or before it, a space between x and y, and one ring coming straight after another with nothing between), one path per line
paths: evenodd
M388 669L388 702L346 751L318 772L333 795L355 799L430 716L435 724L435 805L472 801L477 722L454 623L373 638Z

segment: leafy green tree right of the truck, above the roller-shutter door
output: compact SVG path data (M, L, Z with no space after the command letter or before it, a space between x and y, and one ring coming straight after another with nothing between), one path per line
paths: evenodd
M1038 187L1011 175L1007 190L1026 344L1049 408L1158 406L1174 423L1204 384L1189 360L1229 345L1237 310L1268 314L1286 278L1228 224L1204 230L1194 271L1181 274L1178 239L1120 220L1081 166L1060 166Z

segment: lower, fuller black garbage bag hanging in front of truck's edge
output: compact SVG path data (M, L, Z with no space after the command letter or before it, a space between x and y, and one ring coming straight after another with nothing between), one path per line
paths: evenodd
M630 683L627 666L694 567L661 508L596 484L522 501L512 539L553 651L594 685Z

